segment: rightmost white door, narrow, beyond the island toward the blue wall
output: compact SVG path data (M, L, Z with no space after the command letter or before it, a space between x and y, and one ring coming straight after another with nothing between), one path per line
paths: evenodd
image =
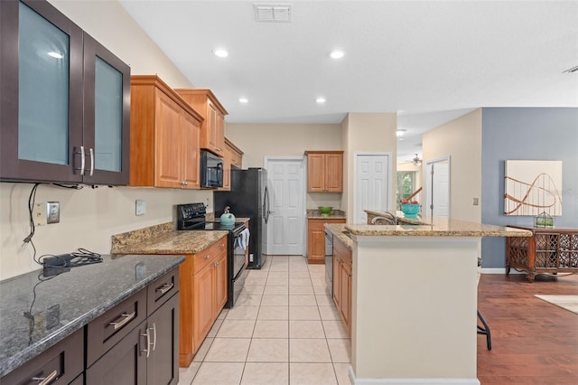
M450 216L450 158L425 164L424 213L433 217Z

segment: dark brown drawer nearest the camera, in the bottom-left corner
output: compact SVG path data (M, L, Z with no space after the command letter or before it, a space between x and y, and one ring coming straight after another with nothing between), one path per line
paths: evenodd
M46 352L24 363L0 379L3 384L38 384L48 377L50 384L68 384L84 369L84 329L71 334ZM81 378L81 377L80 377Z

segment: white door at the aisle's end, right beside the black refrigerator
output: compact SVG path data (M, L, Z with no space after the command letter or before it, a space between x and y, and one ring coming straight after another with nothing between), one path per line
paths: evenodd
M303 255L303 158L266 159L271 214L267 254Z

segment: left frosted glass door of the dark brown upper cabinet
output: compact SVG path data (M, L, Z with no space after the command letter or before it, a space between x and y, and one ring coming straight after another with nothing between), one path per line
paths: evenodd
M82 32L48 3L0 3L0 177L79 182Z

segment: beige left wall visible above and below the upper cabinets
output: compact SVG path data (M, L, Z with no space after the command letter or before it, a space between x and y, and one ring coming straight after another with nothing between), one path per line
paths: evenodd
M116 1L51 3L129 63L133 74L158 73L173 88L192 87ZM40 268L33 263L33 248L23 244L30 231L27 207L32 187L32 183L0 183L0 279ZM136 199L147 204L143 216L135 216ZM37 256L80 247L108 253L112 234L172 221L174 203L209 202L212 211L212 193L204 191L128 187L73 191L42 184L36 202L47 201L61 202L61 222L36 228Z

